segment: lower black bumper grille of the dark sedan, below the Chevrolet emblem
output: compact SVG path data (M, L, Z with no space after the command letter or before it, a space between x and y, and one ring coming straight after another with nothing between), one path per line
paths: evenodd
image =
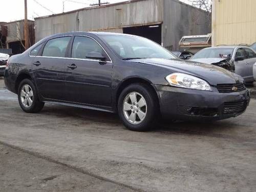
M246 110L247 101L240 102L225 102L224 103L224 115L242 113Z

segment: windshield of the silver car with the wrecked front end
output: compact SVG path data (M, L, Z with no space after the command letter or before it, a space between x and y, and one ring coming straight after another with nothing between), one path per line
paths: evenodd
M192 59L201 58L228 58L232 55L233 48L207 48L196 53Z

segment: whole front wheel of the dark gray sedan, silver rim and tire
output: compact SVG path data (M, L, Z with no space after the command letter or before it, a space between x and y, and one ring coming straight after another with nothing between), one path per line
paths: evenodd
M147 131L158 118L158 99L147 84L134 83L125 88L118 99L118 114L132 131Z

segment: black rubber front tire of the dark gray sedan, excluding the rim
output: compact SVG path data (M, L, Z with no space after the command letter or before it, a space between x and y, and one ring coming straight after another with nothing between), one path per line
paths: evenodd
M129 122L124 116L123 112L123 102L126 96L132 92L138 92L141 94L146 102L146 116L139 124L133 124ZM130 86L126 87L120 94L118 98L118 115L122 120L123 124L127 127L127 129L132 131L148 131L155 125L159 117L159 103L156 93L154 93L153 88L144 83L134 83L130 84Z

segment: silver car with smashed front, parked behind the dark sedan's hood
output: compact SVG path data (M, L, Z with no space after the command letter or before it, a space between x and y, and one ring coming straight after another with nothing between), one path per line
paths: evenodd
M254 81L252 68L256 61L256 53L247 46L205 48L196 53L190 60L212 64L235 72L241 75L246 82Z

